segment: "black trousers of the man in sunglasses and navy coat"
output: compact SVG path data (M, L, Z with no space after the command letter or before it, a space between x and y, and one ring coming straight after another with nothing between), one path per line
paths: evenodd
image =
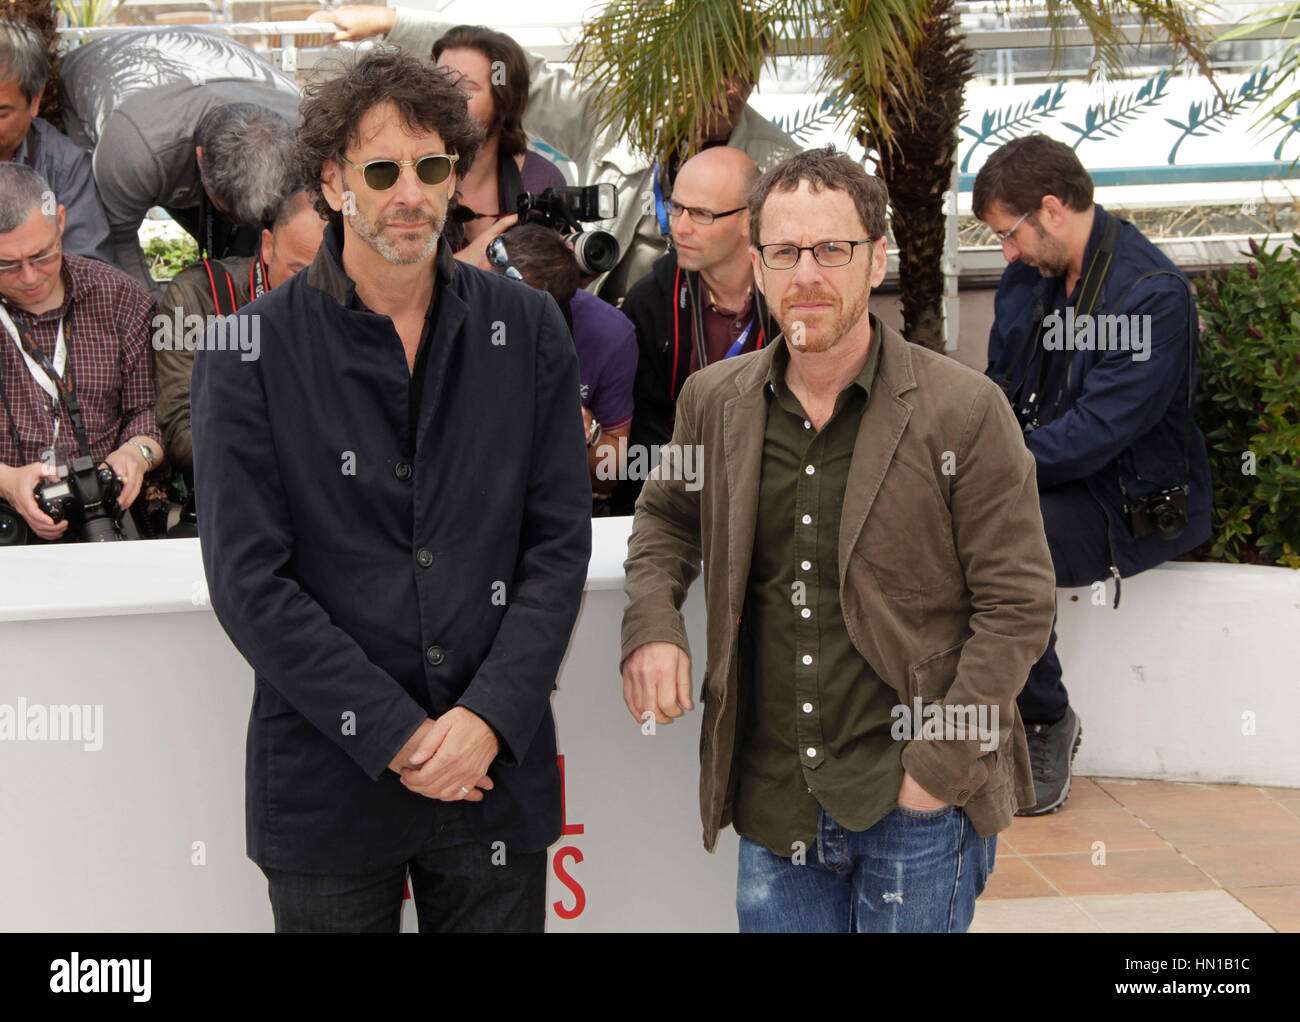
M261 867L276 932L395 934L408 870L421 934L542 932L546 852L494 848L469 830L459 802L438 809L410 862L329 876Z

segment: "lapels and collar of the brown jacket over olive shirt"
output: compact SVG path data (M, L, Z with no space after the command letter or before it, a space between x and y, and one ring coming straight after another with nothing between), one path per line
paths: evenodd
M897 330L871 313L872 343L880 345L880 363L871 387L871 398L862 412L862 424L854 441L849 464L849 482L844 491L840 515L838 563L845 577L849 551L853 550L867 520L871 504L893 460L902 438L911 406L902 394L916 386L911 346ZM731 614L740 619L754 549L754 527L758 520L758 480L763 465L763 436L767 430L767 399L763 389L777 345L784 337L749 359L736 373L737 393L723 406L723 458L727 469L727 557L732 566L728 579Z

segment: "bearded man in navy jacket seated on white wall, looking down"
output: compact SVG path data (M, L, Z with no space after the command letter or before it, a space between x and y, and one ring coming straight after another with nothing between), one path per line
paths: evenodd
M1069 146L1015 139L975 178L975 216L1010 264L994 299L988 374L1037 463L1057 585L1119 579L1210 536L1205 438L1192 421L1196 306L1187 277L1130 222L1092 202ZM1079 716L1056 632L1019 697L1037 804L1070 793Z

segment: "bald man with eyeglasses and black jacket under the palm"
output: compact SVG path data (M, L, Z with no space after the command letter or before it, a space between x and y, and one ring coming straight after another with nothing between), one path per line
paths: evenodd
M705 150L677 173L664 202L672 246L623 300L638 348L629 450L649 455L668 442L688 376L757 351L777 332L749 260L745 203L757 179L754 161L728 146ZM633 512L641 484L619 482L614 514Z

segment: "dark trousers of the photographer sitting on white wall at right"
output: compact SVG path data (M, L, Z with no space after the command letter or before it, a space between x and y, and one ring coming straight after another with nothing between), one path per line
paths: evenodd
M1043 528L1052 550L1057 585L1091 585L1108 579L1110 547L1106 544L1106 515L1088 489L1082 482L1053 486L1039 493L1039 506L1043 508ZM1065 716L1070 697L1061 680L1056 620L1052 622L1048 648L1030 668L1017 705L1026 724L1054 724Z

